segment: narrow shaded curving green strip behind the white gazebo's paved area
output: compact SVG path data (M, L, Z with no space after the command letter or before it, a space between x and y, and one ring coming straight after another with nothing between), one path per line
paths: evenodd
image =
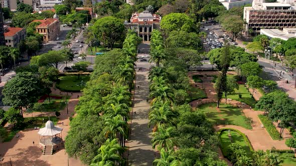
M44 124L47 122L48 118L54 122L56 125L59 121L58 117L56 116L38 116L38 117L26 117L24 118L24 122L20 124L18 127L14 127L11 131L9 131L8 136L4 139L4 142L11 141L14 136L23 129L26 128L34 128L34 127L44 127ZM44 119L44 123L43 123Z

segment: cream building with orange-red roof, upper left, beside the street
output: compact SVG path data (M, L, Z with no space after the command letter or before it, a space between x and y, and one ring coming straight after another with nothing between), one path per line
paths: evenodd
M36 26L36 31L43 34L43 41L55 40L60 34L60 21L56 18L36 19L33 22L41 22Z

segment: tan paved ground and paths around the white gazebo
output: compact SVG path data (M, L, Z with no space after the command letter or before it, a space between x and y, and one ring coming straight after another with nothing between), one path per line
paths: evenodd
M61 92L59 89L52 88L52 93L54 94L66 94L66 92ZM71 93L69 93L71 95ZM67 114L67 107L60 111L61 115L59 116L58 126L63 127L62 137L65 139L70 125L69 117L75 113L74 108L78 103L78 95L81 96L81 93L73 93L69 99ZM51 115L52 112L33 112L33 116L47 116ZM54 113L54 112L53 112ZM25 117L32 117L32 113L24 112ZM62 124L64 123L64 125ZM14 137L10 142L0 143L0 155L4 156L4 160L0 161L1 166L9 166L10 159L12 165L23 165L23 166L32 166L32 165L43 165L43 166L60 166L60 165L73 165L81 166L84 165L80 162L79 159L69 158L65 148L62 147L60 150L56 151L53 155L42 155L42 151L39 148L39 134L38 130L33 128L28 128L20 131L19 137ZM35 144L33 145L33 141Z

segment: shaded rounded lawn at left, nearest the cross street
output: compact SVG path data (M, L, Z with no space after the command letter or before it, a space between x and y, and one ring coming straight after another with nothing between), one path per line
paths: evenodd
M81 75L79 79L77 75L60 76L56 87L62 91L80 91L88 80L89 75ZM83 81L82 85L81 81Z

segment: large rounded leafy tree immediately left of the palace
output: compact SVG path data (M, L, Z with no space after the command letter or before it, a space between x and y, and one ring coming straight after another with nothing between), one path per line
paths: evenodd
M92 30L100 40L113 49L116 41L122 41L124 35L124 25L122 21L113 16L106 16L95 21Z

